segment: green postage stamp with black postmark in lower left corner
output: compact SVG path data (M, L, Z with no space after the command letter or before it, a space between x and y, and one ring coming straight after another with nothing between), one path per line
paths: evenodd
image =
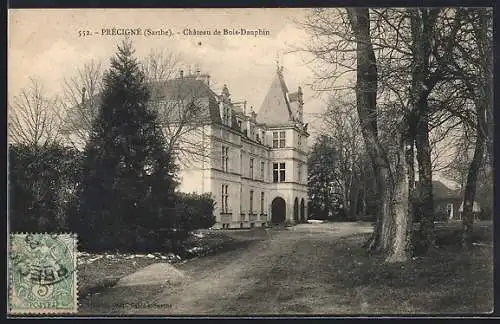
M10 248L11 314L76 313L76 235L11 234Z

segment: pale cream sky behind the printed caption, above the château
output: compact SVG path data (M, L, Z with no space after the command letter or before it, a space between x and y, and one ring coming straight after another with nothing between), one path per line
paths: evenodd
M323 100L309 85L313 73L305 64L307 54L288 53L307 39L294 22L307 9L17 9L8 19L9 98L27 86L29 78L40 81L45 91L57 94L64 78L90 59L105 63L125 38L102 35L103 29L141 28L130 36L138 57L151 50L180 54L183 61L209 73L215 87L227 84L233 101L247 100L258 113L271 85L277 59L284 67L291 92L304 92L304 119L314 133ZM264 30L268 35L213 35L215 29ZM144 30L171 31L172 36L145 36ZM212 35L184 35L185 29L209 30ZM90 31L92 35L81 35ZM94 34L95 33L95 34ZM187 72L189 66L184 70ZM214 89L219 90L219 89Z

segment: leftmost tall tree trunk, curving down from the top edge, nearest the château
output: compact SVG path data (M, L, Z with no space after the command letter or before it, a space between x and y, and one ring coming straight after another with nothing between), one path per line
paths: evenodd
M386 245L384 242L387 235L382 235L382 232L384 228L386 230L388 228L387 221L389 221L389 214L386 212L384 206L389 205L388 202L391 200L391 195L386 194L386 181L390 176L389 163L378 138L377 61L370 37L370 13L368 8L358 7L346 10L356 38L356 102L358 117L377 183L377 197L375 198L378 201L377 210L375 211L377 224L366 246L370 250L380 250L380 248ZM384 223L386 223L385 226Z

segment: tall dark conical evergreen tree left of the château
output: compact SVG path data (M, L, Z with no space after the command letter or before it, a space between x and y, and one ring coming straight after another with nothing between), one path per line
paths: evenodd
M78 232L92 250L157 247L175 204L174 157L165 151L144 74L125 41L104 76L99 114L85 148Z

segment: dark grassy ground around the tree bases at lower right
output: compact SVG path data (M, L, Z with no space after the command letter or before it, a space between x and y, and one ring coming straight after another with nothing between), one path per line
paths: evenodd
M475 229L476 245L468 252L459 247L460 231L440 229L437 234L437 249L398 264L368 256L360 248L367 235L339 240L332 267L337 272L332 291L342 292L339 304L377 314L491 312L491 228Z

